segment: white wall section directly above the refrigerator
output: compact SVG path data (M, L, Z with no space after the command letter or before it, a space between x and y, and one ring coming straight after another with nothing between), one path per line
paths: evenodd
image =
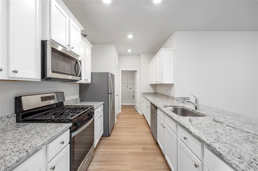
M93 44L91 49L91 72L115 74L117 51L115 44Z

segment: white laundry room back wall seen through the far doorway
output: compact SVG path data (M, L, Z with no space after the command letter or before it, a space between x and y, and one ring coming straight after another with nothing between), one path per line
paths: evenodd
M134 72L135 71L121 71L121 78L122 78L121 79L121 103L122 103L122 105L133 105L134 104L134 101L133 101Z

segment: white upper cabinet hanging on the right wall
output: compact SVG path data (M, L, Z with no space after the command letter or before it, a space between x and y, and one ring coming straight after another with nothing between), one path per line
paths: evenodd
M150 84L174 84L174 49L160 49L149 65Z

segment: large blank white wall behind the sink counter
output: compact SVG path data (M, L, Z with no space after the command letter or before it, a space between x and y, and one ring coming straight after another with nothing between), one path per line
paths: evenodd
M165 47L175 48L174 96L258 117L257 32L177 31Z

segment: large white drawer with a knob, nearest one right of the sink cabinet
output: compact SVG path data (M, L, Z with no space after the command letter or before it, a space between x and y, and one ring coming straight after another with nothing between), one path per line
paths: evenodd
M194 154L201 158L202 156L202 143L194 138L190 133L178 126L177 136L194 152Z

